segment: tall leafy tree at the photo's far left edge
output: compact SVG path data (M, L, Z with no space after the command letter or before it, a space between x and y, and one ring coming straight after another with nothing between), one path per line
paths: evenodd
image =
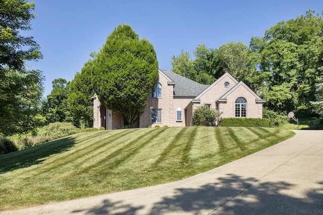
M0 133L32 130L41 122L37 110L44 77L39 70L25 68L26 60L41 58L31 30L34 3L0 1Z

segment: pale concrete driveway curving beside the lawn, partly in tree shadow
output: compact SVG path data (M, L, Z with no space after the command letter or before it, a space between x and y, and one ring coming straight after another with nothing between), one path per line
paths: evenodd
M323 131L182 181L3 214L323 214Z

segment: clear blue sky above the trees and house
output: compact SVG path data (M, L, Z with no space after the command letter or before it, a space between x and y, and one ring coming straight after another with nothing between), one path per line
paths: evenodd
M43 71L44 96L54 79L72 81L119 24L130 24L154 46L160 69L172 69L171 57L204 43L219 48L230 41L249 45L251 37L308 9L321 14L322 0L34 0L32 30L43 59L28 61Z

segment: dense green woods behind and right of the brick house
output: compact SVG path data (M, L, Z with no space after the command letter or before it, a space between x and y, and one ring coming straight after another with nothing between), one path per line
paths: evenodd
M276 112L321 114L322 35L322 16L308 10L277 23L263 37L252 37L249 46L229 42L212 49L201 44L193 51L194 59L182 50L171 62L175 73L202 84L228 72Z

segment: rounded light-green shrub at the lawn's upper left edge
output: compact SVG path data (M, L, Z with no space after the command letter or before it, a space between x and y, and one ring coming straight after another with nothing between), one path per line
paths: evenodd
M41 136L54 136L61 138L70 134L77 133L79 129L68 122L53 122L39 129L38 134Z

